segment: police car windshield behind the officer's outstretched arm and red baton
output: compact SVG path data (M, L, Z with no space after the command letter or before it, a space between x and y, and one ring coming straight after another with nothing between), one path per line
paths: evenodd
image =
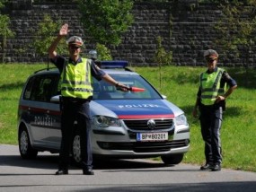
M110 74L119 83L140 88L137 91L121 92L105 81L93 78L93 100L152 100L162 99L152 85L137 74Z

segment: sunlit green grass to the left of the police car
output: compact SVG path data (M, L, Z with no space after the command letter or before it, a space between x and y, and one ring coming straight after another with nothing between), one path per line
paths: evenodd
M0 65L0 143L17 144L17 109L27 77L46 65Z

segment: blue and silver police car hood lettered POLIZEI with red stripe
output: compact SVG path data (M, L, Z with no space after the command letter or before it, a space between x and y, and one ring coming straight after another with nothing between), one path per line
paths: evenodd
M93 100L92 115L115 118L174 118L182 110L168 100Z

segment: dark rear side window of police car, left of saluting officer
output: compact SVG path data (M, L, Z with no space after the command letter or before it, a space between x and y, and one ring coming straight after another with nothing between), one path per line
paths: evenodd
M57 95L57 75L37 75L31 77L23 94L24 100L49 102L50 98Z

